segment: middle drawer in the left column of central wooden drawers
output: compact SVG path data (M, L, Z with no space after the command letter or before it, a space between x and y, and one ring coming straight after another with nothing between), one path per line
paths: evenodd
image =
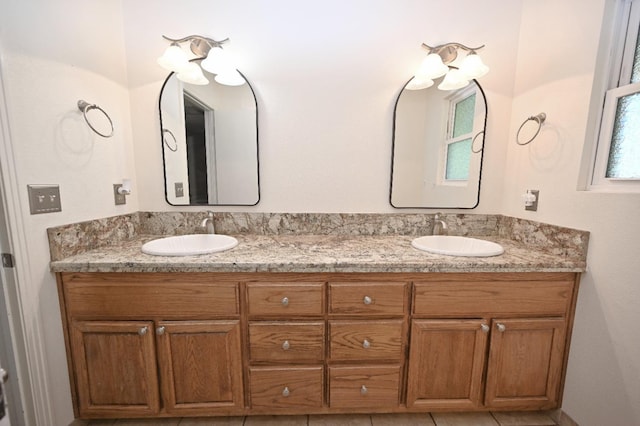
M252 361L322 361L324 322L249 323Z

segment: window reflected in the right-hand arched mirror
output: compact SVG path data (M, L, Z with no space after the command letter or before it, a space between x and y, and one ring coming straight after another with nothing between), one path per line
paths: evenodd
M449 124L445 139L445 182L466 182L469 179L475 108L475 90L461 91L450 99Z

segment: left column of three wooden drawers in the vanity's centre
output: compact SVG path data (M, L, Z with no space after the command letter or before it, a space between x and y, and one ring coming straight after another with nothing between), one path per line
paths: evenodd
M252 408L323 406L325 284L248 283Z

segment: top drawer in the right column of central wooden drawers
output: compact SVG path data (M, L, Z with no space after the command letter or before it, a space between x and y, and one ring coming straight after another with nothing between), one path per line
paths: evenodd
M329 312L345 315L402 315L406 310L407 284L329 283Z

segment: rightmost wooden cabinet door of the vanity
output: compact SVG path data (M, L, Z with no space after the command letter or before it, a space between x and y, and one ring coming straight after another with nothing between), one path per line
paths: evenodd
M485 404L491 408L555 408L565 321L494 319L492 327Z

